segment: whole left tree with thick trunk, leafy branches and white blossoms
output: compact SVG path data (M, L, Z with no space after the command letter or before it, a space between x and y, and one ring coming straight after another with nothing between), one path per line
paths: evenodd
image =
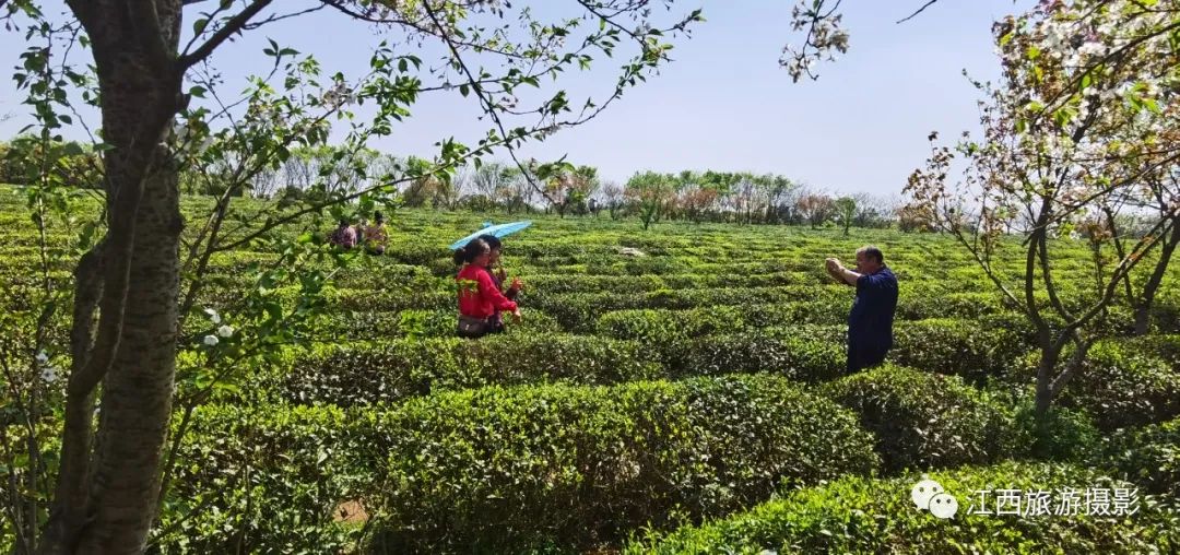
M214 254L266 241L297 243L278 249L295 253L284 259L291 267L266 274L257 290L273 290L276 279L303 276L293 272L300 263L295 259L314 244L314 235L308 230L284 239L275 230L324 211L340 214L345 202L372 208L402 183L445 179L464 162L496 149L506 149L514 158L523 143L579 125L605 110L668 59L667 37L700 19L699 12L653 17L650 2L616 0L571 2L572 17L556 21L538 20L527 7L498 0L320 0L301 7L271 0L225 0L209 6L199 0L66 4L68 13L54 18L42 13L35 0L0 1L0 15L9 27L17 24L30 38L46 38L45 44L31 46L24 56L26 71L15 76L28 91L45 144L58 129L80 125L73 119L72 94L65 91L73 87L101 115L96 150L104 152L103 218L78 226L100 240L79 243L84 254L72 290L66 288L68 294L59 294L52 303L46 298L46 321L55 307L66 312L72 307L70 340L38 337L38 348L30 350L31 359L32 353L46 351L47 360L68 360L70 368L60 451L46 451L55 449L47 446L52 442L27 443L28 488L14 494L21 497L14 521L20 553L142 551L173 463L169 453L176 452L175 446L165 449L175 390L191 384L190 400L198 403L211 394L210 383L234 367L212 360L266 351L297 329L283 326L282 307L273 299L247 295L238 301L258 332L253 339L228 321L209 321L211 333L191 338L182 333L185 318L199 315L196 295ZM219 78L205 71L210 56L225 50L240 33L294 17L316 17L315 12L336 12L375 25L408 45L433 41L445 52L442 63L433 68L422 63L414 46L382 45L372 53L367 74L347 79L327 76L314 58L271 43L264 52L273 64L261 67L269 73L251 79L244 98L222 98ZM636 53L622 65L616 86L604 97L579 102L565 91L542 87L542 79L557 78L566 68L586 68L595 57L611 56L627 44ZM93 66L94 73L73 68L68 57L78 52L91 57L81 66ZM520 86L540 89L536 106L522 105L514 92ZM491 122L486 137L471 146L440 141L438 156L428 164L380 176L360 190L332 189L327 187L330 176L324 174L317 176L322 182L317 189L324 194L314 201L257 214L232 209L232 200L251 187L253 177L280 168L297 146L323 144L334 122L336 129L345 128L346 138L333 162L350 159L371 137L391 133L411 116L408 107L427 93L461 94L478 103ZM374 115L356 119L358 104ZM181 170L215 158L229 161L231 168L218 169L229 183L218 189L208 215L185 222L179 210ZM33 189L41 195L38 205L52 205L42 201L58 198L42 195L46 191L59 190L50 184ZM185 226L192 227L192 234L182 242ZM315 289L326 278L301 281ZM307 302L314 305L312 299ZM205 350L197 352L208 357L178 368L177 353L189 347ZM28 361L30 367L38 365L44 366ZM42 383L32 384L30 391L44 390ZM31 393L28 399L42 397ZM97 418L96 407L100 407ZM182 423L181 436L183 427ZM60 461L60 465L51 468L42 464L45 459ZM52 502L41 503L44 497Z

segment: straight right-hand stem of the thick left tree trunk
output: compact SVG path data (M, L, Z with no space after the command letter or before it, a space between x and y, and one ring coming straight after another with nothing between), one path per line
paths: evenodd
M140 553L156 516L176 371L181 214L175 171L157 171L145 185L119 350L103 383L93 520L80 553Z

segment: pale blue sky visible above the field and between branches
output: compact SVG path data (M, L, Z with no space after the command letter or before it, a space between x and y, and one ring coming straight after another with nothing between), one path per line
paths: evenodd
M301 0L275 4L295 7ZM527 145L520 155L542 161L568 156L618 183L642 170L710 169L779 174L837 195L897 195L924 163L930 131L953 137L978 126L978 94L963 71L982 79L998 73L991 22L1031 0L942 0L903 24L896 21L923 0L845 0L850 51L819 66L819 80L799 83L779 65L784 45L801 40L789 27L793 4L675 5L675 13L702 8L707 21L674 40L670 65L588 124ZM546 15L543 11L558 0L536 5L538 15ZM46 13L63 12L58 0L45 6ZM196 8L185 17L195 19ZM275 22L215 54L211 63L228 89L238 90L245 76L266 70L261 51L268 39L314 54L330 72L355 77L366 70L375 45L399 38L336 14ZM24 47L21 33L0 30L0 64L15 66ZM617 63L609 61L553 86L570 90L579 105L585 94L611 87L616 71ZM2 138L30 122L20 97L11 79L0 80L0 116L11 116L0 122ZM489 123L477 118L472 98L457 91L426 97L413 106L407 124L371 145L399 156L431 156L440 138L474 142ZM93 113L83 116L97 125Z

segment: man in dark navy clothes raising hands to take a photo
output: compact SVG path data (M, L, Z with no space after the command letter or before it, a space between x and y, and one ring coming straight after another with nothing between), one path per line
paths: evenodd
M885 361L893 346L893 313L897 311L897 278L885 266L885 255L873 246L857 250L857 269L839 259L827 259L827 272L857 288L848 313L848 373Z

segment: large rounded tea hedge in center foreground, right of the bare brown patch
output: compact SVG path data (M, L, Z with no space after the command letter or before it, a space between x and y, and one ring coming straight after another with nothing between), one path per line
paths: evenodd
M878 463L853 414L767 376L490 387L373 418L386 553L585 550Z

